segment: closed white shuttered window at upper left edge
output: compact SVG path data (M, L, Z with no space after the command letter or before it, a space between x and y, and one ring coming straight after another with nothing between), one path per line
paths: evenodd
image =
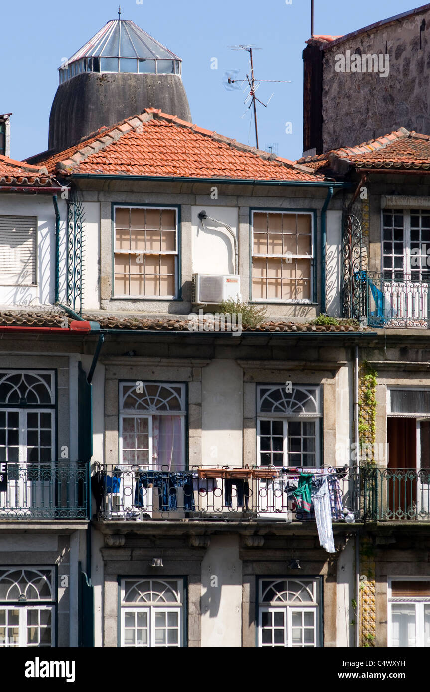
M36 283L37 218L0 215L0 284Z

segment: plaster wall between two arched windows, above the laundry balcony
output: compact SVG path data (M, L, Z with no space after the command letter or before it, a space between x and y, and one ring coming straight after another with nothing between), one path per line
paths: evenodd
M202 370L202 466L242 466L242 380L235 361L212 361Z

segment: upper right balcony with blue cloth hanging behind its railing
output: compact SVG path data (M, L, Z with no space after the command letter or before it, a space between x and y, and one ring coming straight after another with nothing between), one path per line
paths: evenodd
M354 281L359 315L370 327L430 327L430 282L420 273L360 271Z

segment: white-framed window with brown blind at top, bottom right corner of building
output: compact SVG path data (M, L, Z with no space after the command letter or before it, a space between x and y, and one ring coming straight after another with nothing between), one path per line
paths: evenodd
M430 579L388 580L388 646L430 647Z

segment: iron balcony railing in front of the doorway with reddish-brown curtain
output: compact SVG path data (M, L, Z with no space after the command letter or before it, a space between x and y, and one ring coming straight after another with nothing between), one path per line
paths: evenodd
M430 468L362 468L365 521L430 520Z

